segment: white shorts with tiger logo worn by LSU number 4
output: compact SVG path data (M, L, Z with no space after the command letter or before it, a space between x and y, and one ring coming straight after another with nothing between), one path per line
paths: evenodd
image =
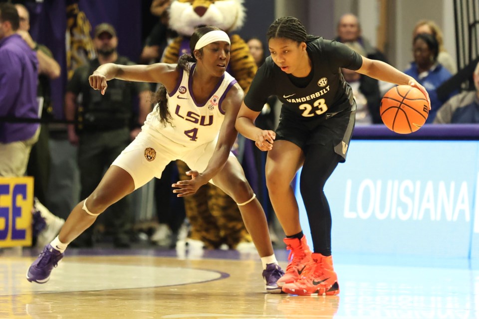
M153 177L160 178L165 166L172 160L183 160L192 170L202 172L208 166L218 138L198 147L189 148L170 139L142 131L113 161L112 165L126 170L140 188ZM235 156L230 152L230 156ZM210 180L210 183L213 183Z

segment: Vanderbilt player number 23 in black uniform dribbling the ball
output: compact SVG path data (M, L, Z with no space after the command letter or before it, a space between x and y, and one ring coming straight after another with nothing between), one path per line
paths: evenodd
M258 69L241 105L236 128L262 151L268 151L266 183L291 251L286 274L278 280L283 292L295 295L337 295L338 278L331 258L331 211L323 187L339 162L346 160L354 127L356 103L340 68L372 78L417 87L412 77L370 60L346 45L308 35L294 17L281 17L268 29L271 55ZM276 132L254 126L266 99L282 102ZM298 169L314 251L299 224L298 204L290 183Z

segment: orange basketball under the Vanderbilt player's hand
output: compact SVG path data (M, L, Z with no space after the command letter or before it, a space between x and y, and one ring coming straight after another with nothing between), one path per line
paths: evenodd
M429 105L418 88L398 85L384 94L379 112L388 129L399 134L409 134L426 123Z

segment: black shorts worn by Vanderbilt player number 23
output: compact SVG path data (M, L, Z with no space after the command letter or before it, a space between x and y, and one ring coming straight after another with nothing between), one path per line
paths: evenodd
M286 113L286 112L285 112ZM331 146L344 162L353 134L356 105L339 113L326 113L320 119L298 120L296 117L281 114L276 141L285 140L296 144L306 154L309 145Z

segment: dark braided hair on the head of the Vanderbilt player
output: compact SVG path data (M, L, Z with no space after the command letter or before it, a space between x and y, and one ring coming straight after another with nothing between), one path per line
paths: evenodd
M310 42L318 38L308 34L301 21L293 16L283 16L274 20L268 28L266 37L268 41L272 38L286 38L298 43Z

